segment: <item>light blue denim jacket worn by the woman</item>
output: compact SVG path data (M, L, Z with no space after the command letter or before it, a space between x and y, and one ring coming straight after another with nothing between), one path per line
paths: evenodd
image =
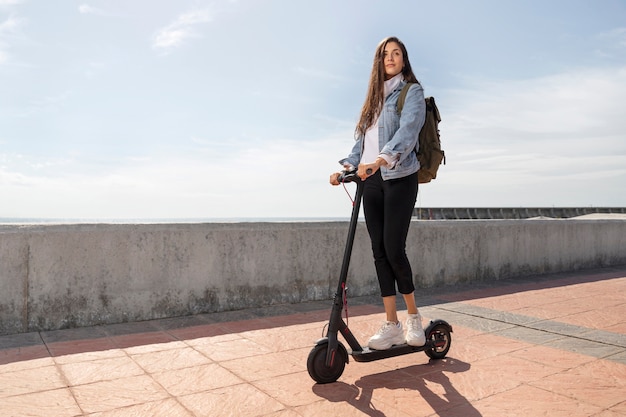
M402 114L398 116L396 105L398 96L406 81L398 86L385 98L383 110L378 119L378 144L381 154L391 158L391 164L380 167L383 180L402 178L411 175L419 169L419 162L413 150L419 147L418 136L426 117L426 103L424 89L419 84L413 84L406 95ZM356 138L352 151L348 157L339 161L341 165L359 165L363 152L363 135Z

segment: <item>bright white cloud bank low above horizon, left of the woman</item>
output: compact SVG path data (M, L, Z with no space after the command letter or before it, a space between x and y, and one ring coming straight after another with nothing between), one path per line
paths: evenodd
M219 158L203 145L111 161L98 172L83 158L0 155L0 194L12 196L0 217L324 217L333 208L348 217L345 193L328 184L337 166L328 149L336 143L336 138L304 144L277 140Z

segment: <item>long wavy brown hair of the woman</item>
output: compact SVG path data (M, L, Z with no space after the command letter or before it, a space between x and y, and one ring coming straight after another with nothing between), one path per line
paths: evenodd
M413 74L411 62L409 61L409 54L406 51L404 43L402 43L400 39L395 36L390 36L380 41L376 47L376 53L374 54L372 73L370 75L369 86L367 87L367 97L365 98L365 103L363 103L363 107L361 108L361 117L354 132L357 137L365 135L365 132L374 124L381 109L383 108L383 103L385 101L384 58L385 47L389 42L395 42L400 45L402 59L404 60L404 68L402 68L402 76L404 77L404 80L410 83L419 83L415 74Z

